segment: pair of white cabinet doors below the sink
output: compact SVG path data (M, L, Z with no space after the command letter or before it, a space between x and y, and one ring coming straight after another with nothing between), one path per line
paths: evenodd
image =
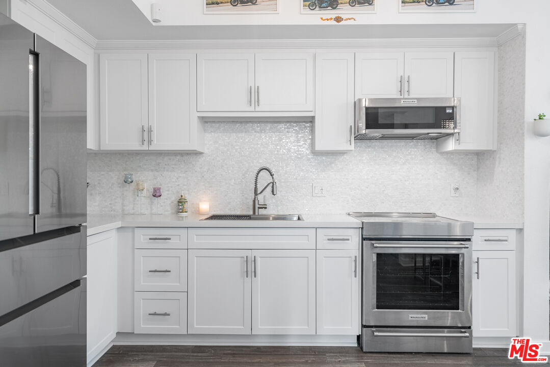
M315 334L315 250L189 250L188 331Z

